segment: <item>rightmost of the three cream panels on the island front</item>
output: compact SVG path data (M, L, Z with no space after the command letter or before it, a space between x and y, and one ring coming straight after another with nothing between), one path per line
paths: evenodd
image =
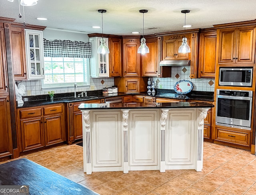
M166 120L166 169L194 169L196 110L169 110Z

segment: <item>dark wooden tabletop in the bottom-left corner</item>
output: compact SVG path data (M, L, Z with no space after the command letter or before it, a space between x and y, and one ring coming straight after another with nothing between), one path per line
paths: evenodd
M98 195L26 158L0 165L0 185L29 185L30 195Z

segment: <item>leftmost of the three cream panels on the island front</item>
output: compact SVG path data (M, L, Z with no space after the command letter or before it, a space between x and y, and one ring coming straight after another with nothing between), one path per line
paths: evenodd
M94 167L122 166L121 112L93 112Z

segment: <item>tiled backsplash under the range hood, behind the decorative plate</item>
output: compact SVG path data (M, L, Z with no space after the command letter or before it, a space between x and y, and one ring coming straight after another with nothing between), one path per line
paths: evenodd
M188 80L193 84L194 91L212 91L214 92L214 78L190 79L190 66L172 67L171 77L158 78L151 77L151 81L158 81L156 88L158 89L173 89L174 84L180 80ZM176 78L177 77L177 78Z

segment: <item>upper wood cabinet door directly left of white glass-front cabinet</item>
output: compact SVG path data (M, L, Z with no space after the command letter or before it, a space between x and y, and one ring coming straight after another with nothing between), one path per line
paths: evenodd
M15 80L27 79L24 28L11 28L12 64Z

